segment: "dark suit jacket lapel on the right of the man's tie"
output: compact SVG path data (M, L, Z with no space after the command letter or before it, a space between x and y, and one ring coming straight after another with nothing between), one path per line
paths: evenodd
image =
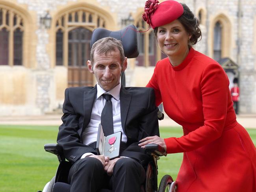
M126 117L127 117L128 110L130 107L131 99L132 99L132 94L128 93L127 90L125 90L123 87L121 87L121 89L120 89L120 111L121 111L122 129L123 129L124 133L126 133L125 122L126 122Z

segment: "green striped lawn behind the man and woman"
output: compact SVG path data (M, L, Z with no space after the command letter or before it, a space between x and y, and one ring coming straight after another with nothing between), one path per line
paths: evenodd
M254 144L256 129L247 129ZM54 176L58 159L46 153L46 143L56 143L57 126L1 126L0 125L0 192L35 192L42 190ZM162 127L161 137L179 137L178 127ZM165 174L175 179L182 161L182 153L169 154L158 161L159 181Z

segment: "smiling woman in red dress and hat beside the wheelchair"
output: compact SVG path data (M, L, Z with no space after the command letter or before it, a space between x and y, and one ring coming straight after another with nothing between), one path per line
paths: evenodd
M173 0L148 0L143 18L168 56L156 64L147 87L184 136L147 137L139 145L154 142L167 153L184 153L178 192L255 192L256 149L236 121L228 77L219 63L192 48L201 37L198 19Z

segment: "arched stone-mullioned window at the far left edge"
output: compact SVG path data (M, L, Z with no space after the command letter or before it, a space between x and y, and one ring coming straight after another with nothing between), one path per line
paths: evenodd
M23 19L0 7L0 65L23 65Z

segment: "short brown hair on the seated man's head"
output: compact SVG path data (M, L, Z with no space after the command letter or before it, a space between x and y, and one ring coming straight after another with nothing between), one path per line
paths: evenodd
M124 48L122 42L113 37L104 37L96 41L91 48L91 63L94 63L94 54L107 55L108 52L119 51L121 63L124 61Z

